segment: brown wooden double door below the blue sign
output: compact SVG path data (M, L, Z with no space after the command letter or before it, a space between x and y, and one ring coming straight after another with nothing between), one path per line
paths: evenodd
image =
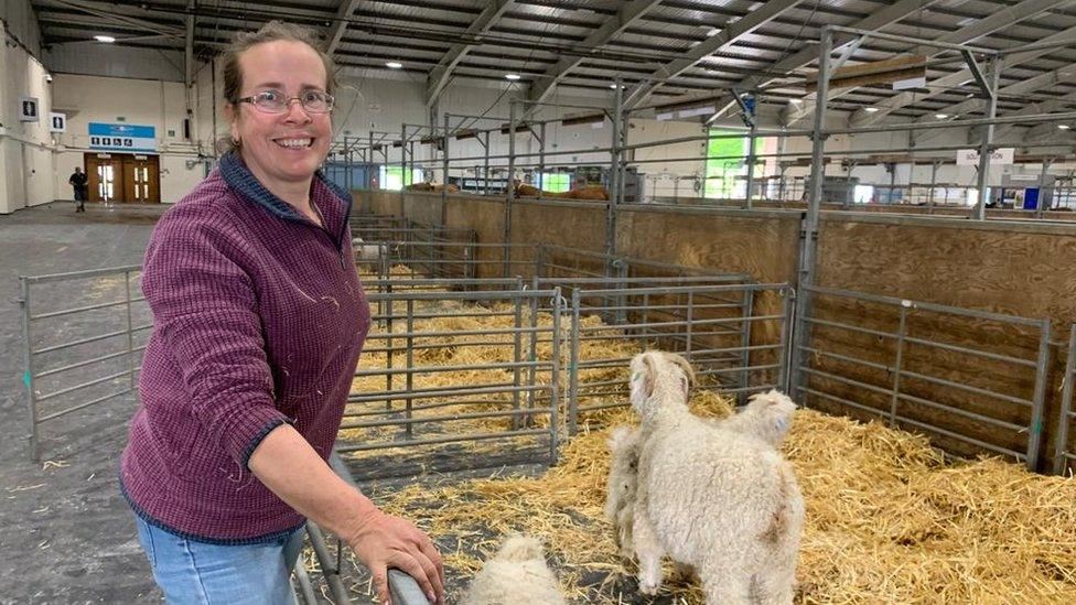
M157 155L87 153L89 202L159 204L161 173Z

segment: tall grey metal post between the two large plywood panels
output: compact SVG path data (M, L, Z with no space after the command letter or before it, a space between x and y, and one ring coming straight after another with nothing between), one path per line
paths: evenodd
M793 338L792 385L794 398L799 397L803 387L800 366L804 360L804 347L810 346L807 335L807 321L810 315L811 294L808 288L815 278L815 253L818 247L818 215L822 202L822 179L825 177L826 151L826 97L829 96L830 53L833 50L833 32L829 28L822 29L818 48L818 88L815 100L815 128L811 144L810 191L807 197L807 214L804 217L803 233L799 248L799 279L796 289L799 291L799 313L796 315L796 327Z

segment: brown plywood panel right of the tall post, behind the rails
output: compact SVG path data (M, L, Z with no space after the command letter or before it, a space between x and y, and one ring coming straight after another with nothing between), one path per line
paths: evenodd
M1064 339L1067 324L1076 321L1076 229L1068 226L992 226L973 223L916 220L854 220L824 217L819 237L816 283L885 294L939 304L1054 321ZM821 316L847 317L848 310L819 307ZM889 321L895 311L890 311ZM881 322L885 313L870 314ZM1033 331L1013 329L981 320L954 320L942 316L919 320L921 334L954 344L973 345L991 352L1033 359L1037 337ZM836 349L848 343L822 333L821 342ZM907 354L906 354L907 355ZM1062 352L1054 349L1051 388L1045 408L1044 454L1052 452L1052 434L1058 413L1058 364ZM1031 399L1034 370L989 359L918 347L906 359L910 369L955 382ZM870 382L869 371L843 368L848 376ZM1029 421L1029 410L1011 402L964 392L925 381L908 381L910 392L1014 423ZM831 387L833 387L831 385ZM863 389L833 387L852 400L863 398ZM837 392L835 391L835 392ZM870 399L867 397L865 399ZM902 404L903 406L903 404ZM887 406L886 406L887 407ZM910 403L908 415L973 435L990 443L1022 449L1025 434L991 428L981 421ZM944 444L961 451L955 442ZM966 450L966 449L965 449Z

